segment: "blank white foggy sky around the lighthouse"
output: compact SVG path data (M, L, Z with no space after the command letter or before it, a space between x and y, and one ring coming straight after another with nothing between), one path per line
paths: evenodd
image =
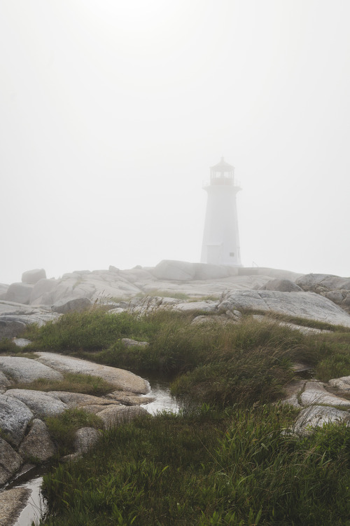
M349 276L349 0L0 0L0 282L199 261Z

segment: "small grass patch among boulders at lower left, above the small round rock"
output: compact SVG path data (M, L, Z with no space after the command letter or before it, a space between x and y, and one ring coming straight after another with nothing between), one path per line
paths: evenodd
M102 419L81 409L67 409L55 417L45 418L45 423L57 447L58 457L72 452L75 433L80 427L103 429Z

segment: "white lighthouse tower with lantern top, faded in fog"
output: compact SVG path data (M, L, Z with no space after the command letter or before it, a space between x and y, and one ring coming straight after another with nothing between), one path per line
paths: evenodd
M210 181L203 188L208 192L202 244L202 263L241 267L236 195L235 168L221 157L211 166Z

